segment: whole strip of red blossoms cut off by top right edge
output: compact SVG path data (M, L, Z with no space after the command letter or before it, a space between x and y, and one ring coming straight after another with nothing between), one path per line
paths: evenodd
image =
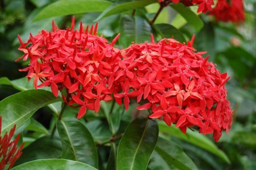
M222 22L240 23L244 21L243 0L218 0L214 8L213 0L158 0L160 3L183 3L184 6L198 6L197 12L213 15L215 20Z

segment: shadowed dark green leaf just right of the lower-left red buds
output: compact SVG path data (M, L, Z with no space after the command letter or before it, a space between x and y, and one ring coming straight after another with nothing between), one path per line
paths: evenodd
M15 166L37 159L60 158L62 153L61 140L56 136L43 136L29 144L22 152Z

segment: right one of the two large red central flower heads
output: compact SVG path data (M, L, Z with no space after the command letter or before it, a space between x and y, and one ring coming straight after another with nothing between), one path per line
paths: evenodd
M174 39L133 44L126 48L119 61L115 81L124 82L122 93L115 93L119 104L124 98L144 103L139 110L150 109L150 118L163 119L167 125L176 124L183 133L198 126L203 134L213 133L215 141L227 132L232 123L230 102L224 84L229 77L221 74L212 62L207 62L188 45ZM115 84L116 82L114 82Z

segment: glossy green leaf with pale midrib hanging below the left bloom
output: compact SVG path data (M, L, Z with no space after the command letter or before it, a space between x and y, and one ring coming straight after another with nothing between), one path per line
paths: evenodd
M90 164L98 168L98 153L89 130L76 118L65 117L56 122L62 142L62 159Z

